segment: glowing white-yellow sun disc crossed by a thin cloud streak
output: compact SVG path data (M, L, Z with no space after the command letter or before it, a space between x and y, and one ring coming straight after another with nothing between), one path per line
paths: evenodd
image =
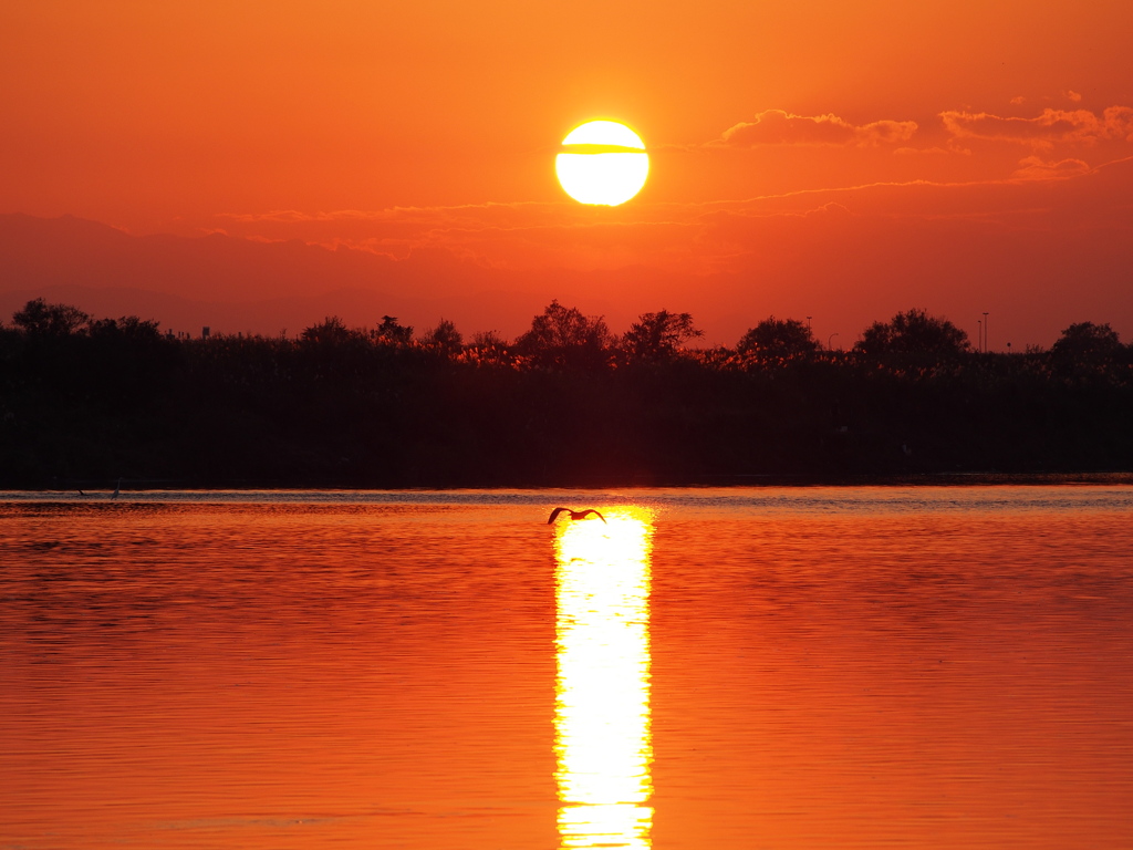
M617 121L588 121L566 134L555 158L563 190L580 204L617 206L637 195L649 176L641 137Z

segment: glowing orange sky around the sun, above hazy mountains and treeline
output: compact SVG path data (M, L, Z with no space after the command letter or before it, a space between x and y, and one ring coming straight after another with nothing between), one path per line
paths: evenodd
M973 337L990 311L993 347L1127 341L1130 32L1126 0L6 3L0 212L387 254L407 318L466 332L557 297L726 343L775 313L850 345L913 306ZM595 117L653 154L616 210L554 178Z

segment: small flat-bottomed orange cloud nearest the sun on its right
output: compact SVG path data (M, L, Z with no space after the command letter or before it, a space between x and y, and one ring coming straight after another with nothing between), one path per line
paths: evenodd
M908 142L917 131L915 121L874 121L854 125L835 114L796 116L782 109L768 109L753 121L724 130L715 146L753 147L756 145L837 145L868 147L883 143Z

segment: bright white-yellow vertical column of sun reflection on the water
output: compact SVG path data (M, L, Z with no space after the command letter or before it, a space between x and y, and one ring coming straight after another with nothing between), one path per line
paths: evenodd
M651 847L651 513L555 529L555 753L564 848Z

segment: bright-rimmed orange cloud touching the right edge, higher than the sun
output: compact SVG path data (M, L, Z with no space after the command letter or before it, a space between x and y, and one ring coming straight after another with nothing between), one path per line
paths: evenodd
M1093 144L1104 139L1133 142L1133 107L1109 107L1100 116L1087 109L1045 109L1036 118L1004 118L990 112L940 113L953 138L1014 142L1036 147L1055 143Z

